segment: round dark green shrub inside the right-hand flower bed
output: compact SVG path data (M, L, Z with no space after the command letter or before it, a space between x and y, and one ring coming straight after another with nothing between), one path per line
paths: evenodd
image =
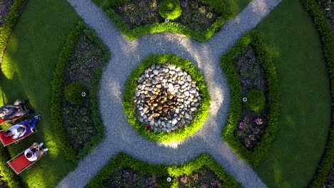
M246 108L255 112L260 112L265 105L265 96L260 90L251 90L246 94L247 102L245 103Z

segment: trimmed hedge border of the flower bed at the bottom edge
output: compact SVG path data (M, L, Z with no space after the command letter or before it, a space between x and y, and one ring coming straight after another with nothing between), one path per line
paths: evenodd
M165 179L171 177L173 179L172 182L161 181L159 182L158 187L178 187L176 177L182 176L183 174L191 174L204 166L208 167L208 169L213 171L218 178L223 181L224 187L238 187L238 182L236 182L233 177L231 177L207 154L203 154L186 164L166 166L147 164L146 162L135 160L123 152L118 153L116 157L110 160L108 164L106 164L106 166L103 167L93 179L91 179L91 182L88 183L87 187L106 187L103 182L106 181L106 179L108 179L108 177L110 177L118 168L122 167L129 167L133 170L142 172L143 174L156 174Z

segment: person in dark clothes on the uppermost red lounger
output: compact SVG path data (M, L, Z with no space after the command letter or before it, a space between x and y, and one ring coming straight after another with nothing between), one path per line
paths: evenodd
M29 110L22 110L21 105L29 103L29 100L16 100L14 105L4 105L0 108L0 118L2 122L13 120L14 117L24 116L29 113Z

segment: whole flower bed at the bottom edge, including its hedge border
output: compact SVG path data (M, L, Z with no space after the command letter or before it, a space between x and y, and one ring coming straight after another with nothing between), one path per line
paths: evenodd
M171 181L168 182L167 178ZM91 179L87 187L237 187L238 183L209 155L186 164L165 166L147 164L119 153ZM149 185L147 185L149 184ZM139 186L141 185L141 186ZM199 187L198 186L198 187Z

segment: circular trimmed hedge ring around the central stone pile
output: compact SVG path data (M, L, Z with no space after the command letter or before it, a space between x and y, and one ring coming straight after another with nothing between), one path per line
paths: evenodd
M196 84L201 93L201 105L198 106L196 116L193 121L187 127L183 127L179 130L173 132L153 132L151 130L146 130L146 126L143 122L137 119L135 106L133 104L133 96L137 88L137 80L140 75L153 64L164 64L169 63L180 67L183 71L186 71L191 78L196 81ZM203 75L198 71L197 68L191 63L191 61L179 58L171 53L166 53L165 55L151 55L144 59L138 68L134 69L126 81L126 90L123 94L123 110L128 117L128 122L135 128L135 130L140 135L145 135L149 140L157 140L158 142L173 142L181 141L188 136L193 135L196 130L201 128L203 122L208 117L208 110L210 107L210 96L208 93L208 87L204 80Z

